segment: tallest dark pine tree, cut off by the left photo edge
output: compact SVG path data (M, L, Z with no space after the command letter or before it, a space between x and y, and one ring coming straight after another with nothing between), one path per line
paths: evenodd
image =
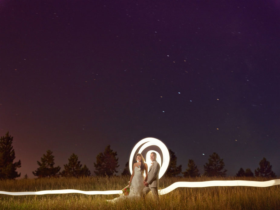
M21 161L14 162L15 150L12 146L13 137L9 132L0 139L0 179L14 179L20 176L16 172L17 168L21 167Z

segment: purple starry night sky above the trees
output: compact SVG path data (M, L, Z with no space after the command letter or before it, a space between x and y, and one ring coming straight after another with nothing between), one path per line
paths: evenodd
M120 174L160 139L183 171L213 152L227 175L265 157L280 175L280 1L0 0L0 135L21 178L53 151Z

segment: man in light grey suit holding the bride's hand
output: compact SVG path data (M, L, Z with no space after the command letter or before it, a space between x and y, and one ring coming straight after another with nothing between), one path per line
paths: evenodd
M150 159L152 164L149 168L147 182L144 181L145 187L143 188L143 197L145 197L148 192L152 191L154 198L159 199L159 172L160 164L156 162L156 153L151 152Z

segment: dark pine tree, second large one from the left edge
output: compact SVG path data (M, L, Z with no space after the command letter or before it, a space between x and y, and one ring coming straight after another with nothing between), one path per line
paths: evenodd
M41 177L55 177L58 176L60 167L54 167L54 156L52 155L51 150L47 150L47 154L43 154L41 157L41 162L37 161L39 168L33 171L34 176Z

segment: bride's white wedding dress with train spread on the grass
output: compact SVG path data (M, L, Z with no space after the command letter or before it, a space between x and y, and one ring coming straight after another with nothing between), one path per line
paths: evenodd
M141 198L141 193L144 188L144 175L141 173L140 168L134 168L134 176L131 180L130 184L130 192L129 195L121 195L120 197L114 198L112 200L107 200L109 202L116 202L119 199L126 199L126 198Z

